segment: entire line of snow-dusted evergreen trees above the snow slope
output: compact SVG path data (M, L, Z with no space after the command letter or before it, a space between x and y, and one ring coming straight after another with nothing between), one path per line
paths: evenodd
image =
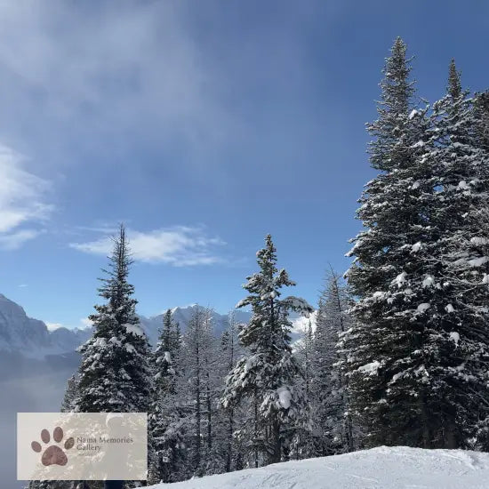
M148 412L149 483L375 445L489 450L489 93L452 61L429 105L411 70L397 38L368 124L363 230L317 308L282 297L295 284L266 236L236 306L248 324L230 313L218 336L198 307L182 331L168 310L151 350L121 226L61 409ZM291 313L309 317L299 340Z

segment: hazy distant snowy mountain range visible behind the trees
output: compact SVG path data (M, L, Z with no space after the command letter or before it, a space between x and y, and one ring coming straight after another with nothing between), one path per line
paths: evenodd
M196 304L172 309L172 317L185 331ZM246 323L250 312L234 310L236 323ZM212 312L214 331L228 327L228 315ZM293 317L293 337L306 321ZM313 319L314 321L314 319ZM140 316L140 325L151 345L156 345L163 315ZM39 320L28 317L24 309L0 294L0 473L9 486L22 487L15 476L15 427L17 413L58 412L68 378L76 372L80 355L76 352L92 334L92 327L50 330Z

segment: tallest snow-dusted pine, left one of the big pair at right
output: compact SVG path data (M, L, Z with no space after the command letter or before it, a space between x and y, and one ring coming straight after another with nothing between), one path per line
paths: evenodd
M429 143L428 108L413 109L410 71L405 44L397 39L384 68L380 116L368 126L375 137L370 161L381 173L365 186L357 217L366 229L349 253L356 258L347 277L358 301L353 325L341 338L342 368L367 445L430 443L425 371L416 353L425 333L417 317L427 301L414 284L427 275L436 179L420 159Z

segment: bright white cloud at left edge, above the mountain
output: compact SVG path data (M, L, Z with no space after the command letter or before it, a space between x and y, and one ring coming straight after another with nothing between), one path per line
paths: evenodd
M45 202L49 183L28 172L24 159L0 145L0 248L14 250L42 231L32 225L48 218ZM28 228L25 228L28 226Z

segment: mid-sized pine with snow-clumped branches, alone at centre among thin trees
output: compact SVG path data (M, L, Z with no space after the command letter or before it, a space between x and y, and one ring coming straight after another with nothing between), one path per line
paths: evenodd
M277 269L277 250L271 236L257 253L260 272L247 277L244 289L249 295L236 307L251 305L253 317L239 333L247 354L229 373L222 397L225 407L236 405L243 397L251 400L254 412L253 438L255 465L258 450L266 462L283 456L285 430L293 425L304 407L304 397L296 378L299 366L290 346L290 310L312 312L309 304L296 297L279 299L280 289L295 285L285 269Z

